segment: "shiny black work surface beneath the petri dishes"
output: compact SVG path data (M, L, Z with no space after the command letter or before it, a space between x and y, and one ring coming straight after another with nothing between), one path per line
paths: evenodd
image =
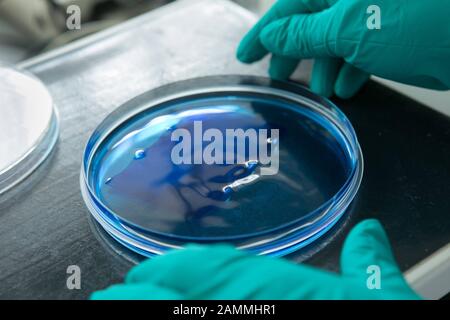
M99 241L81 198L85 142L111 110L151 88L264 75L265 62L234 58L253 22L226 1L181 1L25 64L52 93L61 133L52 157L0 204L0 298L82 299L121 281L131 264ZM335 102L357 132L364 178L347 223L307 263L338 270L350 227L375 217L405 271L450 241L450 118L373 82ZM81 290L66 287L69 265L81 268Z

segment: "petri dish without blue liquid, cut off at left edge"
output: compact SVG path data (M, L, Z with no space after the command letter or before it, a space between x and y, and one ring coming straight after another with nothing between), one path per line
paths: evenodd
M27 178L58 138L53 99L33 75L0 65L0 195Z

